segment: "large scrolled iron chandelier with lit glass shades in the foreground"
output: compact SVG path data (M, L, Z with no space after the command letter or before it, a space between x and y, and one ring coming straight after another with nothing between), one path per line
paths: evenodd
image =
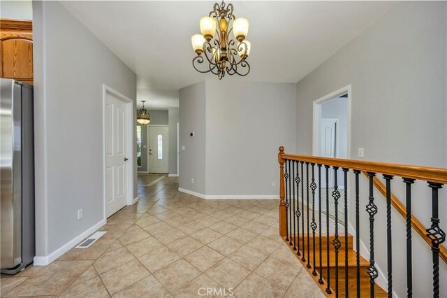
M233 31L232 38L230 36ZM200 19L200 32L194 34L191 42L197 56L193 67L200 73L213 73L219 80L225 73L233 76L247 76L250 64L251 44L245 39L249 31L249 21L244 17L233 15L233 4L214 3L213 10L207 17ZM205 62L206 59L206 62ZM203 63L205 62L205 63Z

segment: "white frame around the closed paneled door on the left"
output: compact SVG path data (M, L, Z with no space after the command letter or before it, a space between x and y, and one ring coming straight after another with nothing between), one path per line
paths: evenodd
M133 152L133 140L134 140L134 130L136 131L136 127L133 125L133 112L134 112L134 101L126 95L114 90L112 87L103 84L103 218L107 221L107 213L106 213L106 198L105 198L105 96L110 94L117 99L121 100L126 104L126 114L127 114L127 152L129 155L129 164L132 166L126 166L126 176L127 176L127 194L126 194L126 203L127 205L134 204L135 200L133 199L133 178L134 178L134 167L136 163L136 159L133 156L135 152ZM135 127L135 129L134 129Z

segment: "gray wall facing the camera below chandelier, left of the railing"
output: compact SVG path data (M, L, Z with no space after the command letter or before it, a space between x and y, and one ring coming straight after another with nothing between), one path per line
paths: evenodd
M279 195L278 148L295 151L295 84L207 80L206 90L206 194Z

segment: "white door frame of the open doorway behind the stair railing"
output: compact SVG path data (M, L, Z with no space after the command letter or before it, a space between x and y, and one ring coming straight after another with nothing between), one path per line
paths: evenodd
M321 120L321 105L323 102L333 99L334 97L338 97L339 95L348 94L348 113L347 113L347 121L348 121L348 150L347 150L347 159L351 158L351 100L352 100L352 90L351 85L347 85L342 87L339 90L331 92L330 94L325 95L324 97L320 97L319 99L314 100L313 102L313 125L312 125L312 155L316 156L318 154L318 150L320 149L320 120Z

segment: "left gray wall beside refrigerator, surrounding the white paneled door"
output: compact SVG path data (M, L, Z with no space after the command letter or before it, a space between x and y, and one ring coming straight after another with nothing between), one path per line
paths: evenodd
M33 10L36 255L43 257L103 220L103 84L135 100L136 76L59 2L34 1ZM136 196L136 160L134 172Z

